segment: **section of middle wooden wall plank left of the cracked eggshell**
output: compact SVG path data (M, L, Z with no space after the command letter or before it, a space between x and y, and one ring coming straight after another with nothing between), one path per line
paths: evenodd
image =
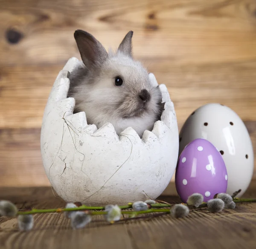
M0 68L0 129L39 128L48 95L62 66Z

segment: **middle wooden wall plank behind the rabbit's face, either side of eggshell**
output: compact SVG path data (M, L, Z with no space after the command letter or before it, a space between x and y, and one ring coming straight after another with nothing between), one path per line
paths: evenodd
M188 64L171 60L145 62L159 83L168 87L181 123L199 106L222 103L243 120L256 121L256 60L240 63ZM63 65L14 66L0 69L0 129L41 127L44 107Z

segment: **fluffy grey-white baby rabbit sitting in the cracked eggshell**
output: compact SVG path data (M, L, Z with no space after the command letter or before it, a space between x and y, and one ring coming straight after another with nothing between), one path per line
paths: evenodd
M132 57L129 31L117 52L108 52L93 35L76 30L74 37L83 64L70 75L68 97L76 100L74 113L85 112L87 123L99 129L111 123L119 135L132 127L140 137L152 130L163 111L159 86Z

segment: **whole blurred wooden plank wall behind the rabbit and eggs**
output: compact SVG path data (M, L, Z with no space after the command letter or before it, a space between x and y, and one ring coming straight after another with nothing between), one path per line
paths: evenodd
M106 48L133 30L134 57L168 86L179 128L222 103L256 148L255 0L0 0L0 186L49 185L41 121L59 70L79 57L76 29Z

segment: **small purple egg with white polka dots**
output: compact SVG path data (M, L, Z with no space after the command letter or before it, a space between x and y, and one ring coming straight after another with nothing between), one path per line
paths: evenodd
M200 193L204 201L227 191L227 169L220 152L208 140L190 142L180 154L175 186L183 203L189 195Z

